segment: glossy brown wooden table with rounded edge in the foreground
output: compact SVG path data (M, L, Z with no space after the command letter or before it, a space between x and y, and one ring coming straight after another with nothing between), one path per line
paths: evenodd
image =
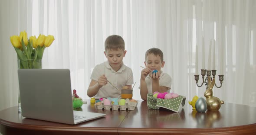
M17 106L0 111L0 132L3 135L244 135L256 134L256 107L224 103L219 111L197 113L187 101L183 109L148 109L139 101L133 111L96 110L84 104L81 111L105 113L103 118L78 125L67 125L28 119L18 113Z

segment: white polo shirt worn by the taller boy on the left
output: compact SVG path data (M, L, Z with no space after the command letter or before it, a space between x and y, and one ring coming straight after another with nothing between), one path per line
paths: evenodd
M108 81L117 87L118 90L115 89L115 87L113 87L110 83L108 83L98 90L98 93L95 95L96 99L100 97L121 98L122 87L125 85L133 84L133 74L131 68L125 66L123 63L117 72L113 70L108 61L105 61L102 64L98 64L92 71L91 79L98 81L98 78L103 74L105 74L105 77L107 77Z

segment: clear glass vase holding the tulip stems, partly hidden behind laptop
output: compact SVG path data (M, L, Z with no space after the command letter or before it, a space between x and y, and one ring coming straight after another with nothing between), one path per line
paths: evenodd
M18 69L42 69L42 60L18 60ZM18 112L21 112L20 88L18 87Z

